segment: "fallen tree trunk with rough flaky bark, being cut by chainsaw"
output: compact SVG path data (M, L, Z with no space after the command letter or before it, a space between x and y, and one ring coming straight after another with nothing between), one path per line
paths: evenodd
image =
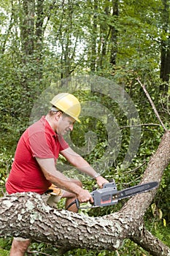
M150 159L142 183L161 181L170 161L170 132L163 135L158 150ZM151 255L170 255L170 249L144 227L144 213L156 189L131 197L120 211L105 217L88 217L46 206L40 195L18 193L1 197L0 236L30 237L62 246L64 249L119 249L130 238Z

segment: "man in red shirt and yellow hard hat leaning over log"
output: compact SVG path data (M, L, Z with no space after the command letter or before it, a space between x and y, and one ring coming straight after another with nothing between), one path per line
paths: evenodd
M50 103L52 108L47 116L42 116L28 127L18 141L15 160L7 179L7 192L36 192L43 197L53 184L60 190L58 198L66 197L66 208L76 198L80 203L93 203L93 197L88 190L82 189L80 181L66 178L55 166L58 155L62 154L74 167L95 178L99 187L108 182L63 139L63 135L72 132L74 122L80 122L80 102L72 94L61 93ZM49 198L47 203L53 205L51 201ZM75 204L69 211L77 212ZM14 238L10 256L23 256L30 242L28 238Z

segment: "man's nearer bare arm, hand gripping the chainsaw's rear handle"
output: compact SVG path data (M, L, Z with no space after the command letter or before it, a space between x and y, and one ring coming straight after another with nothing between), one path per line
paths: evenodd
M53 158L42 159L36 157L36 161L41 167L47 181L50 181L50 183L55 184L55 186L61 189L74 193L77 195L80 203L88 202L89 200L91 203L93 203L93 198L88 190L82 189L77 184L74 184L74 182L69 180L69 178L66 178L63 173L56 170Z

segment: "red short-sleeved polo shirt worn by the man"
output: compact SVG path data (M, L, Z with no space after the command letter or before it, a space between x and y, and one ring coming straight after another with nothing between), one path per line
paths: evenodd
M28 127L18 141L15 160L7 179L9 194L37 192L43 194L50 187L35 157L58 159L60 151L69 145L61 135L56 135L45 116Z

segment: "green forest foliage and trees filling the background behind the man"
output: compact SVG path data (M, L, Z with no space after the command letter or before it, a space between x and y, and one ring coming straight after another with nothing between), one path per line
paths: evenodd
M81 102L98 102L117 120L121 133L120 150L112 165L103 170L103 175L115 178L118 189L139 183L147 162L160 143L163 127L137 78L146 86L163 124L169 129L169 7L169 0L1 1L1 195L5 190L4 184L18 139L28 127L35 102L43 105L39 97L50 86L56 85L60 90L62 83L70 77L84 75L96 75L97 78L116 83L134 102L140 118L140 144L131 164L124 169L122 163L131 139L131 124L128 123L126 113L109 95L99 94L93 88L74 92ZM107 129L99 117L82 116L81 121L79 126L75 124L72 142L77 148L86 149L90 141L95 143L84 156L93 165L105 154L108 146ZM60 161L64 165L64 160ZM67 173L72 175L74 170L67 170ZM93 181L86 176L81 178L85 187L91 190ZM145 217L148 228L168 245L169 184L167 167L158 195ZM88 214L102 216L117 211L122 205L123 202L114 208L98 208ZM0 241L4 255L7 255L5 249L8 253L10 242ZM46 250L51 255L55 250L45 244L33 244L32 248L42 252ZM121 255L147 255L147 252L130 241L125 241L120 252ZM85 250L76 250L74 255L90 253L119 255L119 252L104 251L98 254Z

